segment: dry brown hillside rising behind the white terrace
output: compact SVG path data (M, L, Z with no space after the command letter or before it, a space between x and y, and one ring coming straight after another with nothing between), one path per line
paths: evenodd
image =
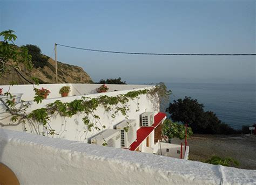
M48 56L45 57L48 58L48 63L43 68L27 70L24 66L19 66L21 68L19 73L29 81L32 81L31 77L37 77L40 83L56 83L55 61ZM15 70L11 70L9 74L0 77L0 84L8 85L11 81L16 81L18 84L30 84L22 76L18 75ZM58 62L58 83L92 83L92 80L82 67Z

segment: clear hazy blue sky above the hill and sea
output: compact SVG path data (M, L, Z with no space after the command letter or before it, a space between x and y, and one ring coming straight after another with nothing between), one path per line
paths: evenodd
M0 30L54 58L54 44L146 53L256 53L255 1L0 0ZM93 81L255 83L255 56L152 56L57 47Z

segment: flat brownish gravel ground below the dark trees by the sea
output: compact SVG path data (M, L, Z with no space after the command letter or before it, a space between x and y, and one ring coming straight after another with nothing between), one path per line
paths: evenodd
M173 140L172 143L179 143ZM212 155L231 157L239 161L237 168L256 169L256 136L225 136L194 134L188 139L189 159L205 162Z

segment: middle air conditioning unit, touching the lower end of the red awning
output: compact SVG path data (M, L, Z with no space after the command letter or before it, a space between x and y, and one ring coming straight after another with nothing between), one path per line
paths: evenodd
M128 128L127 132L125 127ZM121 147L129 148L129 146L137 139L136 120L125 119L117 125L117 130L121 131Z

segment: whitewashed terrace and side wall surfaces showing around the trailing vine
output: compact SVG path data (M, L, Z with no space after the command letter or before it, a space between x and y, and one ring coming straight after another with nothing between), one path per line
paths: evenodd
M58 91L60 89L60 86L58 86L59 84L48 84L48 86L43 85L44 88L48 88L52 91ZM60 84L61 86L64 86L65 84ZM72 84L73 85L73 84ZM98 84L81 84L81 86L77 86L77 84L75 84L76 89L78 89L79 87L82 87L85 89L95 89L95 86L99 87ZM94 86L94 87L92 87ZM72 87L72 86L71 86ZM125 94L128 93L129 91L134 90L139 90L139 89L135 89L137 87L144 87L144 88L140 88L140 89L145 89L146 88L152 88L152 86L119 86L119 85L112 85L110 86L112 89L118 89L119 91L112 91L109 93L97 93L97 94L90 94L90 95L85 95L86 97L98 97L100 95L107 95L107 96L117 96L119 94ZM11 87L13 88L13 87ZM14 86L14 88L18 88L17 86ZM79 89L79 91L82 91L82 88ZM122 90L122 89L129 89L130 90ZM19 91L19 93L24 93L25 94L29 94L32 91L32 87L30 85L25 85L25 86L19 86L19 89L21 89ZM25 89L25 90L24 90ZM83 90L83 92L84 92ZM15 93L16 90L11 89L12 93ZM89 90L90 91L90 90ZM33 92L32 92L33 93ZM31 97L33 97L34 95L31 95ZM31 103L31 107L28 109L28 112L35 110L35 109L39 109L44 107L46 104L49 103L53 103L55 102L57 99L60 99L63 102L71 102L74 99L79 99L82 96L69 96L69 97L59 97L59 98L48 98L48 99L44 99L44 101L40 104L36 104L35 102L30 102ZM146 95L140 95L139 96L139 111L136 112L137 109L137 101L130 101L129 105L130 105L130 111L127 113L127 115L129 116L129 119L136 119L137 120L137 129L139 129L139 115L142 114L145 111L159 111L159 107L154 106L151 102L151 100L149 98L147 98ZM26 99L29 99L28 96L25 96ZM30 98L31 99L31 98ZM0 104L1 105L1 104ZM5 107L2 104L0 106L0 112L5 112ZM98 127L102 128L102 125L106 126L106 129L113 129L113 127L118 124L119 122L121 122L122 120L125 119L125 117L122 114L117 115L116 118L112 118L111 117L111 113L107 113L105 111L104 108L98 108L95 111L96 115L98 115L100 117L100 123L97 125ZM6 116L6 113L2 114L2 117ZM1 114L0 114L1 117ZM90 137L94 136L95 134L98 133L98 131L92 131L92 132L84 132L87 131L86 126L83 124L82 122L82 118L83 115L75 115L72 118L64 118L61 117L59 115L51 118L50 123L51 123L51 127L52 129L55 129L56 132L59 134L58 136L55 136L57 138L65 138L68 140L76 140L76 141L84 141L87 142L88 139L90 139ZM93 118L91 118L92 120ZM9 119L5 119L2 120L2 122L4 123L10 123L10 118ZM23 127L22 125L18 125L18 126L8 126L8 127L3 127L4 129L10 129L10 130L16 130L16 131L22 131ZM26 124L26 128L28 129L28 132L30 132L30 127L28 126L28 124ZM42 129L41 129L42 131Z

